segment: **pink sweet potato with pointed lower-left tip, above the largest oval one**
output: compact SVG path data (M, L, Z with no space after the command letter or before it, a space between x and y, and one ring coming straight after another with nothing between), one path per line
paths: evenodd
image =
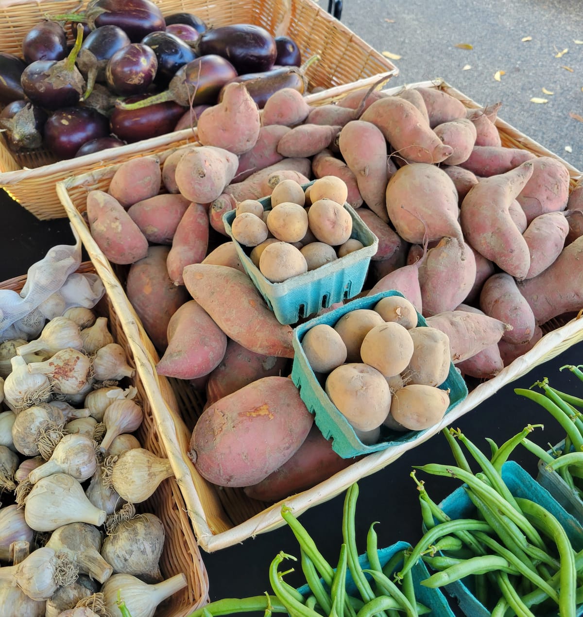
M198 379L225 356L227 337L195 300L176 310L168 321L168 347L156 365L158 375Z

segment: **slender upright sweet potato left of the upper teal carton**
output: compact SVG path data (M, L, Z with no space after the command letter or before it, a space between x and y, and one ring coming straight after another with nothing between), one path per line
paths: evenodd
M201 204L189 205L172 239L166 266L175 285L183 285L182 271L191 263L201 263L209 246L209 217Z

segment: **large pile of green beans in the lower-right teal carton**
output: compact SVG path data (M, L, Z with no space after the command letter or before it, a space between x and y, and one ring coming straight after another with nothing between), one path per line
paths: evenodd
M459 430L442 431L456 464L416 469L460 479L475 514L450 519L413 471L427 531L405 558L397 580L423 559L435 573L421 584L442 587L473 578L475 596L492 617L576 615L583 602L583 551L574 551L555 516L538 503L515 497L502 479L503 463L534 428L527 426L499 447L489 439L490 457ZM480 468L476 473L466 453Z

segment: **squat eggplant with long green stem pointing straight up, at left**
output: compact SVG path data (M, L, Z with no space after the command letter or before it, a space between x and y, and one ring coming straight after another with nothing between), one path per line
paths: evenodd
M75 47L67 58L35 60L23 70L20 83L24 93L33 103L46 109L60 109L80 101L85 80L75 66L75 60L82 39L83 28L79 25Z

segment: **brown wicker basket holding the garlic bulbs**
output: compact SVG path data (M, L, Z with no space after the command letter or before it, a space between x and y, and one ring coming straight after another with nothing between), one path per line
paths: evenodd
M85 262L81 264L78 271L95 272L96 268L92 263ZM26 280L26 275L17 276L0 283L0 289L20 292ZM136 358L133 357L128 337L122 328L122 320L118 318L114 298L109 292L106 291L105 296L97 304L96 312L108 318L107 323L115 342L125 349L128 362L135 366ZM147 341L144 344L147 346ZM152 413L152 405L147 397L140 372L136 372L137 376L130 381L138 389L136 400L144 410L144 420L136 431L136 437L144 448L159 457L166 457L164 442L168 437L165 433L168 430L173 431L173 426L171 423L159 421L158 416ZM164 392L164 395L168 401L173 399L170 390ZM164 578L167 579L182 572L188 582L184 589L160 604L156 617L186 617L196 608L209 602L209 580L176 480L174 478L164 480L149 499L139 504L139 511L154 513L164 525L165 543L160 558L160 571Z

